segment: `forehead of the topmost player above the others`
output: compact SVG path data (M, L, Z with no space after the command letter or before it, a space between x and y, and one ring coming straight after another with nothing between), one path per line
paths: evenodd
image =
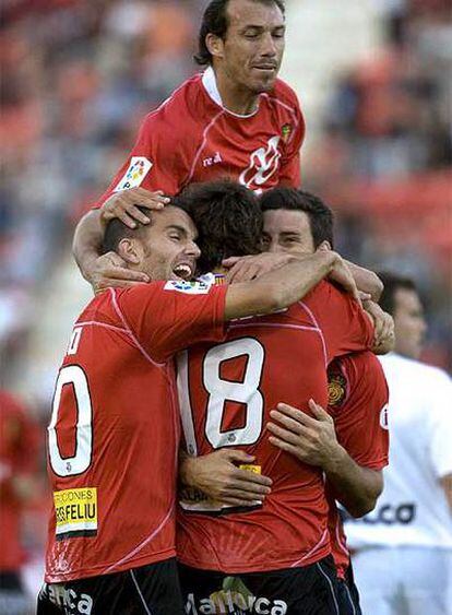
M229 28L242 29L247 27L274 28L285 24L279 7L274 2L259 2L258 0L230 0L227 5Z

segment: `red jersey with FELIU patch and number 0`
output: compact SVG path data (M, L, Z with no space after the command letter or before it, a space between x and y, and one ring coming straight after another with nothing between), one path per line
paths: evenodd
M179 416L171 357L224 339L226 287L108 289L76 321L48 427L46 581L175 556Z

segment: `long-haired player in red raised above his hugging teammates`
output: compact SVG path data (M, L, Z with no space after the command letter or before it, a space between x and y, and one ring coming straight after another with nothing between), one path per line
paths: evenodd
M277 79L285 47L283 0L212 0L199 35L205 67L144 120L108 190L80 223L74 256L95 286L146 281L118 256L99 260L102 220L146 223L138 205L166 202L193 181L229 177L255 190L299 186L305 122ZM153 192L150 192L153 191Z

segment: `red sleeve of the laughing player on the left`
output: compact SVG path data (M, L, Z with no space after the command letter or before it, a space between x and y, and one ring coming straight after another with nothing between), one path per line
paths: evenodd
M116 308L132 340L156 363L200 342L222 342L227 286L154 282L117 292Z

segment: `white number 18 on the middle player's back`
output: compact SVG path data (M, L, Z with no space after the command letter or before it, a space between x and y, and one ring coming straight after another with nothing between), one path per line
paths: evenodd
M225 360L247 356L242 382L223 380L221 367ZM253 338L242 338L211 348L204 358L203 383L209 392L205 418L205 436L214 449L254 443L262 431L264 401L259 386L262 378L264 348ZM188 380L188 354L178 358L178 390L182 425L190 454L197 454L197 441L190 403ZM222 431L226 401L246 405L243 427Z

